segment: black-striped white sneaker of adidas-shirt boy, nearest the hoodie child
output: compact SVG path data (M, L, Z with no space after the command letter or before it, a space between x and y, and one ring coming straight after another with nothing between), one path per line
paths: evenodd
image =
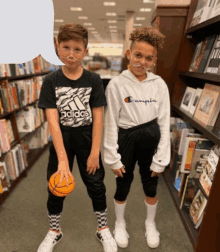
M96 237L102 243L104 252L117 252L118 251L116 241L112 237L109 228L96 231Z

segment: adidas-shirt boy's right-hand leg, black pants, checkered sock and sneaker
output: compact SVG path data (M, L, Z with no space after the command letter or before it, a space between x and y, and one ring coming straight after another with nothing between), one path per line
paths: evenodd
M87 192L92 200L93 210L98 221L96 237L102 242L105 252L116 252L117 244L107 226L106 188L104 185L105 171L101 156L99 157L100 168L96 170L95 174L88 174L86 171L87 160L92 147L92 129L85 132L78 132L78 134L75 135L75 141L80 142L83 149L83 151L78 149L75 150L75 152L80 175L87 187Z

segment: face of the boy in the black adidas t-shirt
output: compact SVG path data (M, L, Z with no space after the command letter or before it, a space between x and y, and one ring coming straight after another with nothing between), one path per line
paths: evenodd
M71 70L76 69L82 63L88 53L83 41L61 41L58 44L58 55L60 60Z

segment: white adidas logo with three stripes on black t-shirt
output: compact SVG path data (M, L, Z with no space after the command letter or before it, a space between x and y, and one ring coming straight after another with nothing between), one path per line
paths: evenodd
M66 118L84 118L88 116L89 111L78 96L74 97L61 111L61 117Z

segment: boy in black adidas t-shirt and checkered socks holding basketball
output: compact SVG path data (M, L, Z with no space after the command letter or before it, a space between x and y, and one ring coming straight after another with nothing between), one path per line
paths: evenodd
M65 64L45 77L39 108L46 109L53 143L50 147L47 180L60 174L60 182L72 176L74 157L92 199L98 220L96 237L105 252L116 252L117 244L107 226L104 168L100 158L103 106L106 99L98 74L82 67L88 50L88 31L78 24L62 25L58 34L58 55ZM49 190L47 201L50 230L38 252L52 252L63 237L59 225L65 197Z

